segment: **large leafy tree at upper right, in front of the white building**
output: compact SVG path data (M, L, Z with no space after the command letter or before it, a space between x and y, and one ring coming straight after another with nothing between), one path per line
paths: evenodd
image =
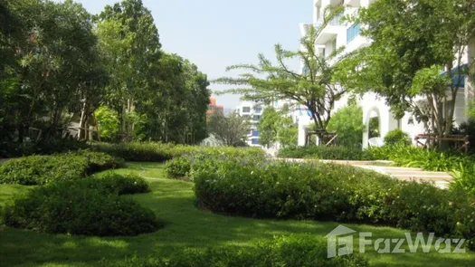
M450 134L462 75L473 70L462 57L475 36L475 2L380 0L356 21L373 43L347 58L345 85L375 91L397 117L411 111L432 133Z

